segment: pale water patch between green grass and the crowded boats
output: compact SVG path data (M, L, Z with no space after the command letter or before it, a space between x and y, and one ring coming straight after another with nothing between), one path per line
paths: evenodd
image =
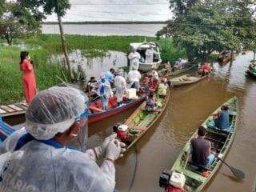
M70 53L71 67L73 70L78 71L78 65L82 66L86 79L89 80L91 76L99 79L101 72L106 72L110 68L117 70L120 67L127 66L127 55L118 51L102 51L95 50L100 57L88 57L86 50L73 50ZM93 55L92 55L93 56ZM49 63L61 64L63 55L52 55L48 58Z

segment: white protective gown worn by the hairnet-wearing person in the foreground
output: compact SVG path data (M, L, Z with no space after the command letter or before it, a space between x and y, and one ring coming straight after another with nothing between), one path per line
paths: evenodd
M31 137L25 129L18 130L0 146L0 162L5 162L0 170L0 191L114 191L113 162L104 160L99 167L93 150L82 153L53 139Z

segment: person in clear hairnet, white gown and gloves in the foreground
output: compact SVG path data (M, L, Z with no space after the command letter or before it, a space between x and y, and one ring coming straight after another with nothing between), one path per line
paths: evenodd
M35 96L26 110L25 129L0 146L0 191L114 191L114 161L125 146L116 134L85 153L68 146L87 130L85 102L70 87L52 87ZM96 164L100 157L102 166Z

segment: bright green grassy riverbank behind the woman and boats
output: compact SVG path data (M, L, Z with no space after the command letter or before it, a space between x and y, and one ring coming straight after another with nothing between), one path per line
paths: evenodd
M82 50L88 57L103 56L102 51L117 50L127 53L130 42L143 42L141 36L82 36L66 35L68 50ZM146 41L157 41L156 38L146 38ZM159 40L162 46L162 60L174 62L184 56L184 52L174 48L171 40ZM44 90L60 82L57 78L68 77L62 66L47 64L51 54L62 53L62 46L57 34L42 34L30 38L15 40L14 45L3 46L0 44L0 104L18 102L22 100L22 74L19 71L19 53L28 50L31 59L35 62L35 73L38 90ZM96 51L95 51L96 50ZM102 51L97 51L102 50ZM70 80L70 79L67 79Z

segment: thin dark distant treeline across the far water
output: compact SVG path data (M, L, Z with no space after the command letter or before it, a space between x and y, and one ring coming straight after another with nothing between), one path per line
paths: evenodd
M166 24L166 22L63 22L68 25L87 25L87 24ZM57 25L58 22L42 22L44 25Z

